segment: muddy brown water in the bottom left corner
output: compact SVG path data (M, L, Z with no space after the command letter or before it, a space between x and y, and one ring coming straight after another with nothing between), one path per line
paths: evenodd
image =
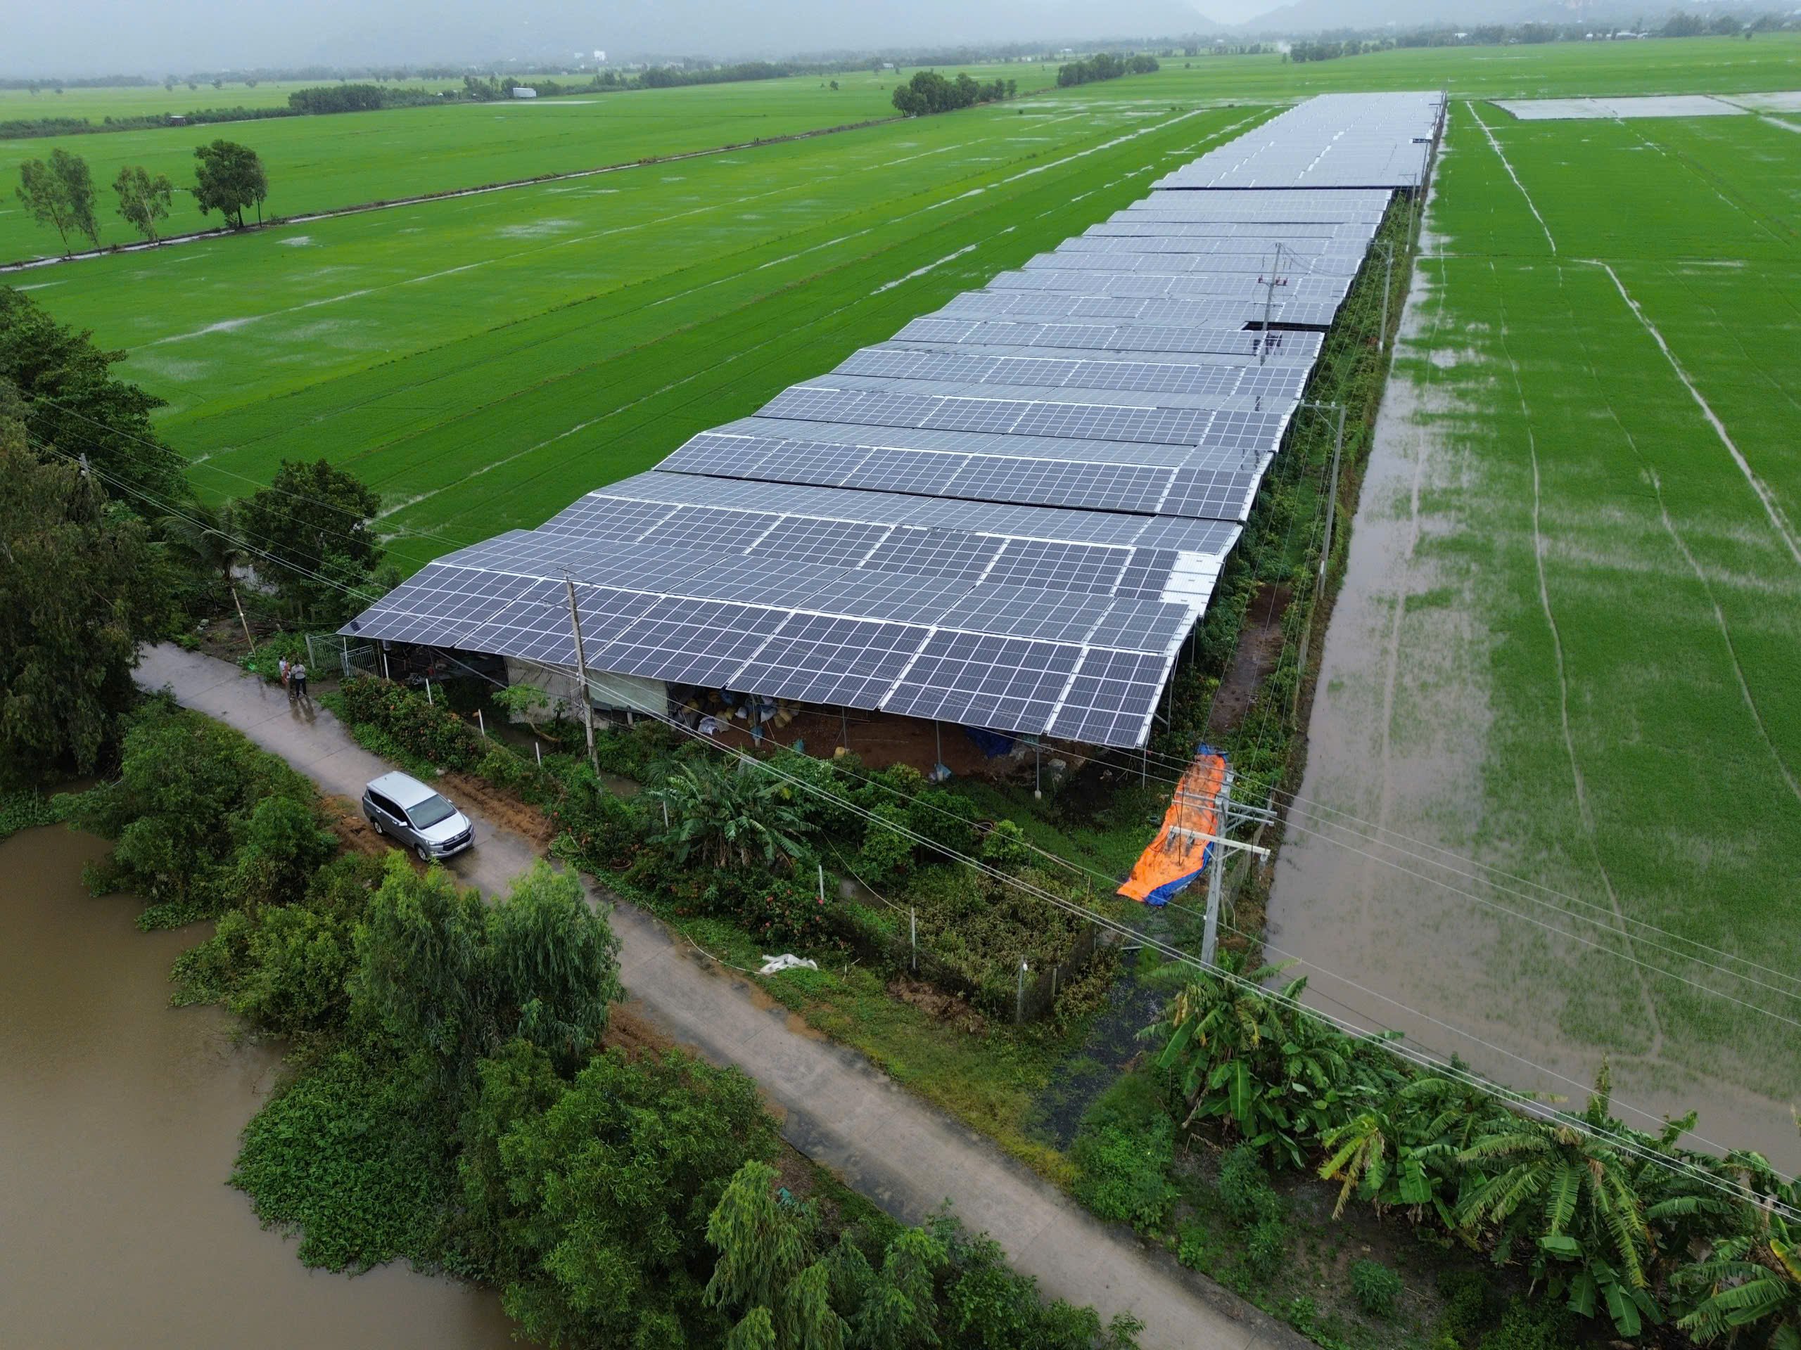
M144 934L137 902L90 898L104 851L61 828L0 842L0 1345L515 1345L492 1291L308 1271L261 1229L225 1177L279 1055L167 1006L198 929Z

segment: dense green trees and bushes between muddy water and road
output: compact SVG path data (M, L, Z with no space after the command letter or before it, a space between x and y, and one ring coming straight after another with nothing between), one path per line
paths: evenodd
M540 862L484 904L344 851L236 731L155 698L124 725L117 783L56 814L115 841L90 884L144 895L146 925L218 920L176 1003L295 1046L232 1184L301 1260L492 1283L542 1345L1133 1343L949 1211L900 1228L783 1157L742 1073L609 1042L618 943L573 873Z

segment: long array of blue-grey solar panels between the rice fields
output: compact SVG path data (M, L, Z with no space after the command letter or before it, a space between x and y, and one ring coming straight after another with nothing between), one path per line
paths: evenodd
M573 666L569 578L593 671L1142 745L1441 113L1304 103L346 632Z

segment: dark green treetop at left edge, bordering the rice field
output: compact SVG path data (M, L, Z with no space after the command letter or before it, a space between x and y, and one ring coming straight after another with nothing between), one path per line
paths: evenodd
M186 461L149 421L162 400L112 376L124 356L95 347L85 329L58 324L23 292L0 286L0 382L23 400L23 412L13 416L29 439L86 455L126 509L151 518L187 497Z

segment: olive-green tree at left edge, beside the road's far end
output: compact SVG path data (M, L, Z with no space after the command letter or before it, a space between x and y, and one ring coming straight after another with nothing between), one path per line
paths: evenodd
M144 526L25 446L0 380L0 781L101 767L166 607Z

